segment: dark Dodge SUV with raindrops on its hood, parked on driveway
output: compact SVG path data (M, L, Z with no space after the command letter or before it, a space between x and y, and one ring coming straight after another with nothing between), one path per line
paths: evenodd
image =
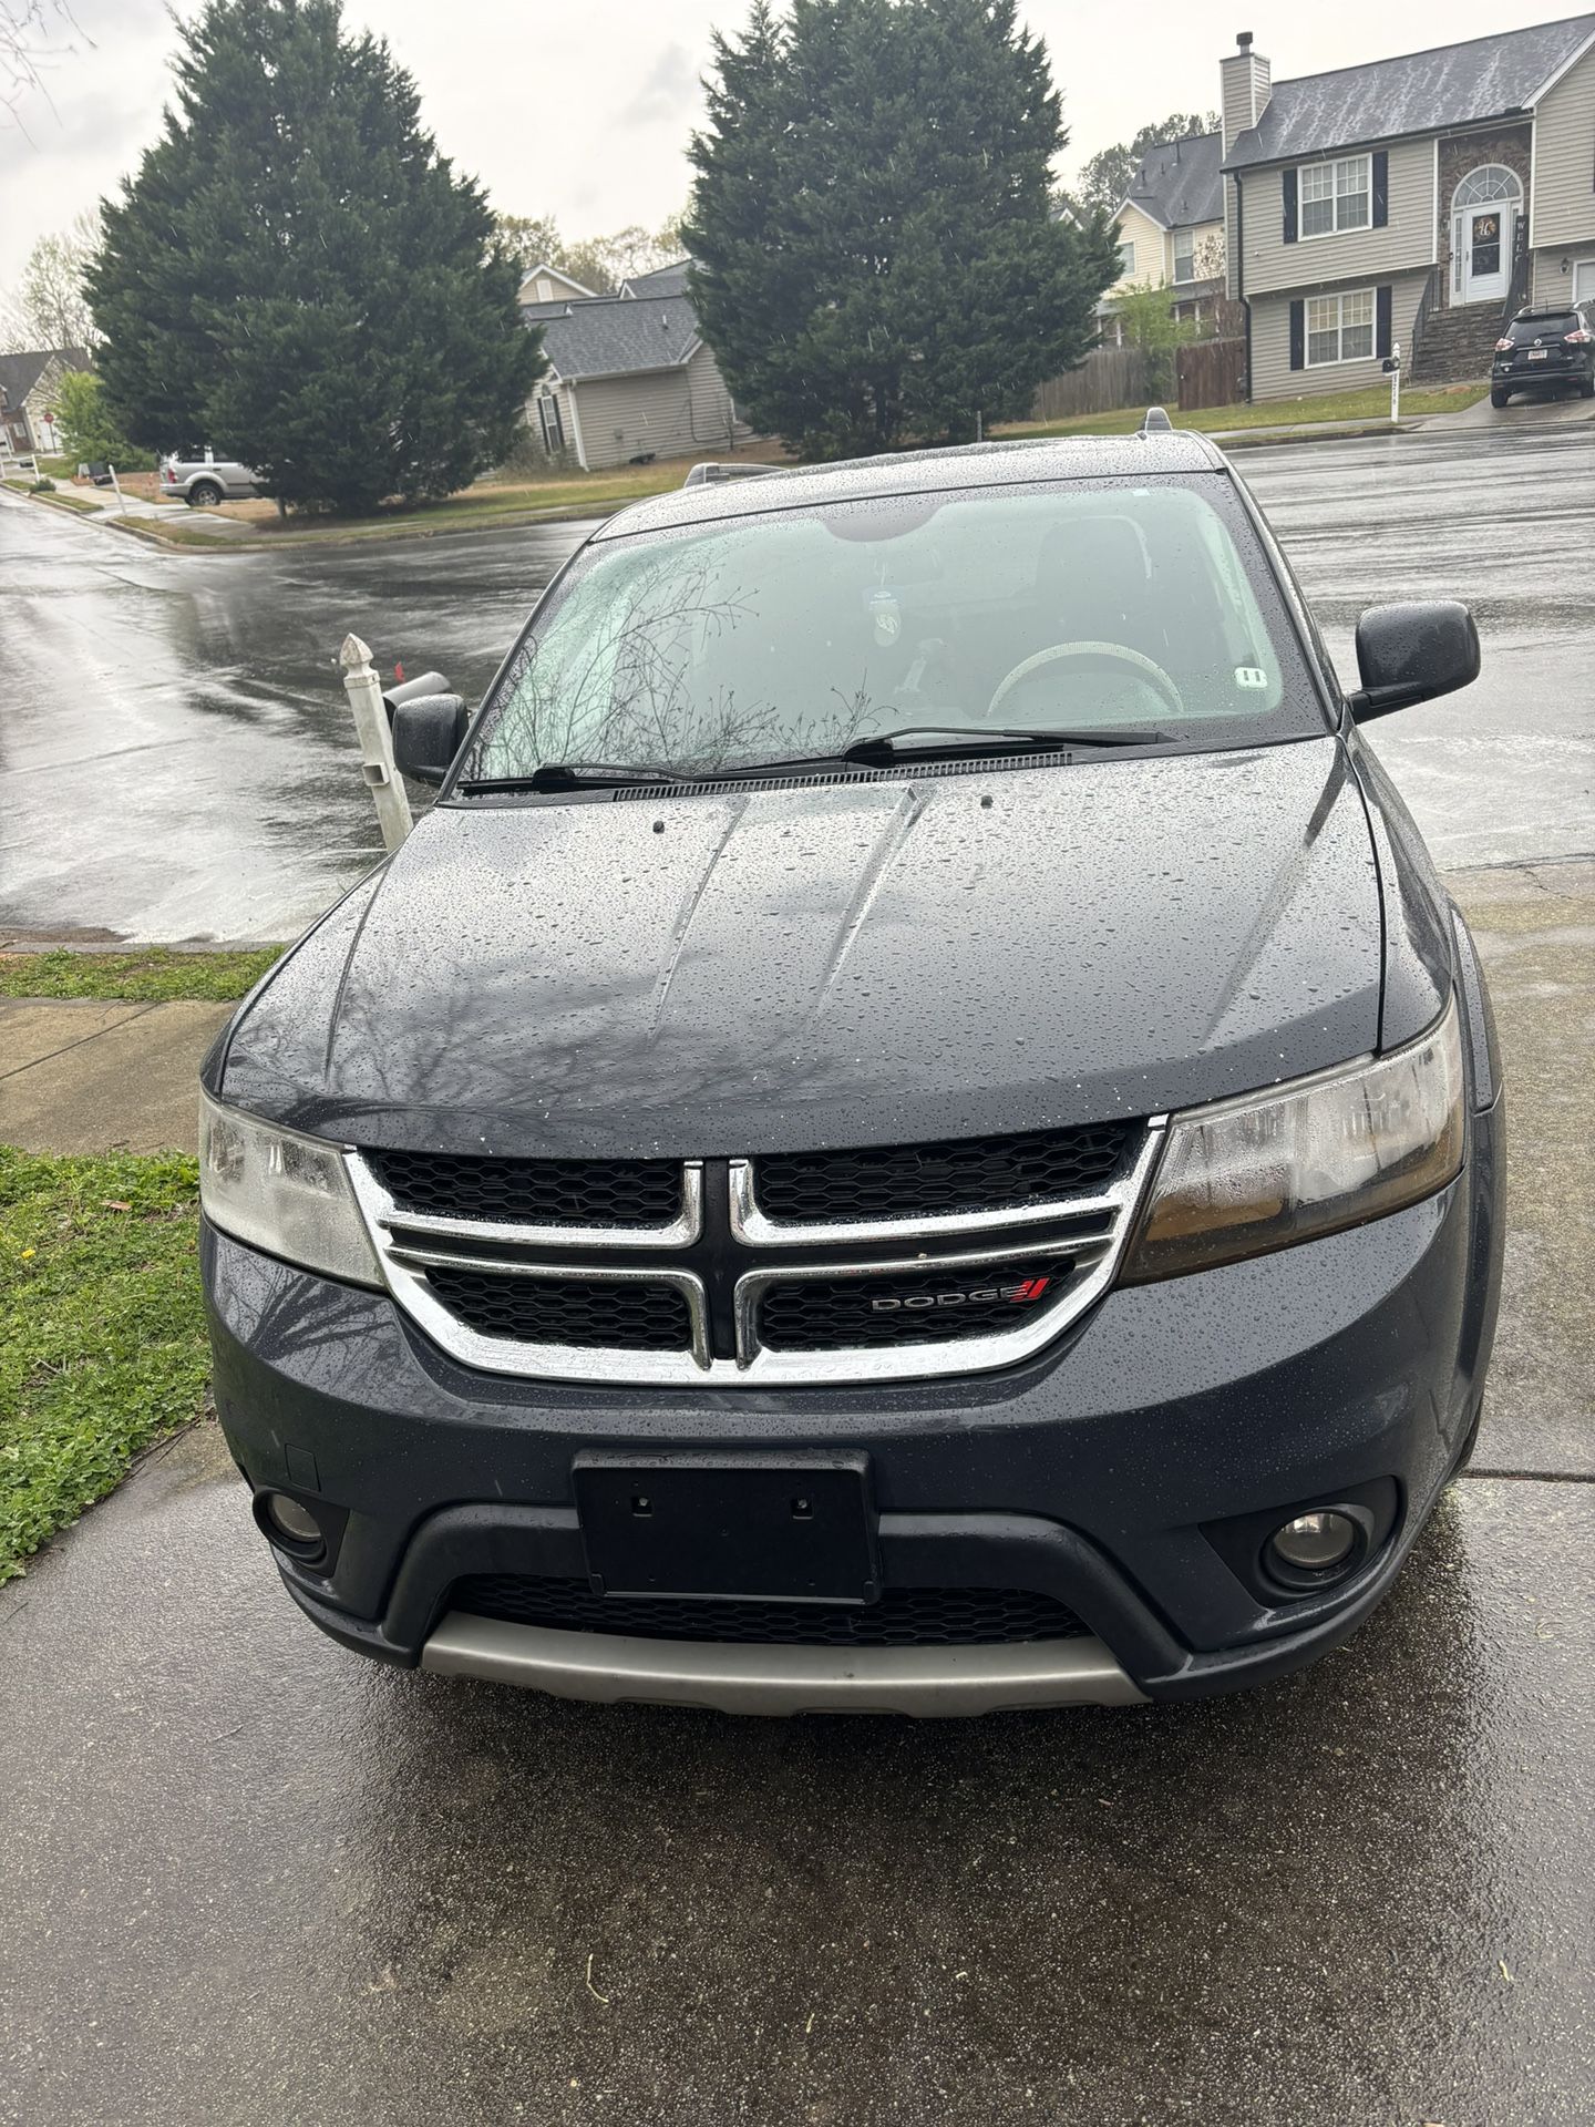
M221 1423L351 1648L589 1697L1187 1697L1342 1640L1478 1423L1478 961L1208 442L602 525L204 1066Z

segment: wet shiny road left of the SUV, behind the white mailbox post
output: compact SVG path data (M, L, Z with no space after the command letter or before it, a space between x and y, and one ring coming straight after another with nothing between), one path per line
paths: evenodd
M293 938L381 855L342 638L474 702L581 530L172 555L0 496L0 927Z

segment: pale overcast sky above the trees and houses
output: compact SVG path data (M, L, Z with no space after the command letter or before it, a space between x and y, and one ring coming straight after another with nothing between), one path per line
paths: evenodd
M72 0L72 13L79 49L51 66L51 100L23 104L26 132L0 115L0 289L36 236L94 206L160 130L172 47L164 0ZM1063 174L1168 111L1212 108L1236 30L1257 32L1282 81L1559 13L1555 0L1021 0L1063 91ZM568 236L591 236L655 225L685 202L710 28L740 26L746 0L345 0L345 15L389 40L438 145L496 206L551 213Z

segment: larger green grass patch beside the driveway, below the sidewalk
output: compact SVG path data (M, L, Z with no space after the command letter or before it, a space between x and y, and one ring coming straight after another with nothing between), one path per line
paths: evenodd
M0 1580L196 1419L198 1166L0 1146Z

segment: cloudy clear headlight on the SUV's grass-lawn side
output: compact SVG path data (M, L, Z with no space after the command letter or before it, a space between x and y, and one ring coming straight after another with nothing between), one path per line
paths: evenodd
M251 1249L349 1285L381 1285L336 1144L302 1138L200 1093L200 1208Z

